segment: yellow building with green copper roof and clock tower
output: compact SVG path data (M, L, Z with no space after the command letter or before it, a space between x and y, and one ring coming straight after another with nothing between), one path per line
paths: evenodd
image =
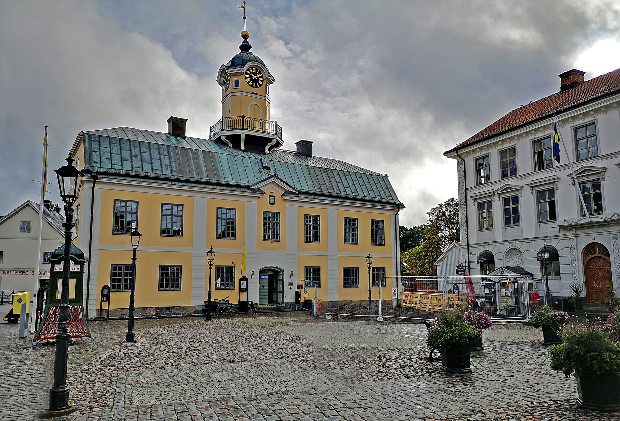
M102 286L110 308L126 309L131 224L142 233L135 305L146 311L201 311L207 299L206 251L216 251L213 299L260 306L294 302L296 290L324 301L368 299L365 257L373 256L373 299L390 299L399 268L398 200L387 175L312 156L312 142L283 150L270 120L275 78L250 52L222 65L223 117L208 138L185 135L170 117L167 133L117 127L79 133L71 150L82 179L74 244L89 256L89 317ZM247 273L242 273L242 253ZM247 276L248 291L239 291ZM89 280L88 280L89 279Z

